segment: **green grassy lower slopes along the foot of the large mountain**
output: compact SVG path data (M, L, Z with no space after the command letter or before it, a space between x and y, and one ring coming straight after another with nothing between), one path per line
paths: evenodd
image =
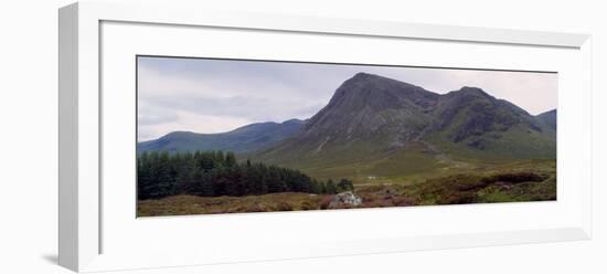
M477 137L454 143L445 134L435 134L394 149L376 147L374 144L391 143L382 138L379 136L374 141L353 141L344 146L332 144L330 151L318 154L310 152L309 149L307 152L287 154L301 156L294 159L277 150L265 155L269 158L254 160L299 169L321 180L348 178L354 183L363 185L409 185L461 172L482 172L512 161L543 157L553 159L556 151L549 133L526 131L518 127L478 137L483 141L482 149L469 146ZM521 139L526 140L525 144L521 144ZM302 147L306 145L302 144L299 148Z

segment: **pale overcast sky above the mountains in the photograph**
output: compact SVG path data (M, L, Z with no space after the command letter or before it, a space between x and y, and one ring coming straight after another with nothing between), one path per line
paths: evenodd
M358 72L445 94L476 86L536 115L556 108L557 75L446 68L138 59L138 140L170 131L223 133L258 122L306 119Z

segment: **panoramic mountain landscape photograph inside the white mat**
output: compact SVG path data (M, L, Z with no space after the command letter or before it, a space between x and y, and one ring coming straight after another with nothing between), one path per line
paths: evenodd
M137 56L137 217L556 200L551 72Z

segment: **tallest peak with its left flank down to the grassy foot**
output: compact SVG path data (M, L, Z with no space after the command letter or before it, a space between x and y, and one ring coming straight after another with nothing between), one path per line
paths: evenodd
M395 80L359 73L345 81L300 134L260 159L280 164L360 159L402 147L432 124L438 95Z

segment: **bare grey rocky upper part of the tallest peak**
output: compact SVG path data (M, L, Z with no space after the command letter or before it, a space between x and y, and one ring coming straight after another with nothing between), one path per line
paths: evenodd
M415 136L432 122L428 110L436 106L437 98L437 94L418 86L359 73L310 118L300 139L343 144L374 139L381 134L398 136L394 140L398 141Z

